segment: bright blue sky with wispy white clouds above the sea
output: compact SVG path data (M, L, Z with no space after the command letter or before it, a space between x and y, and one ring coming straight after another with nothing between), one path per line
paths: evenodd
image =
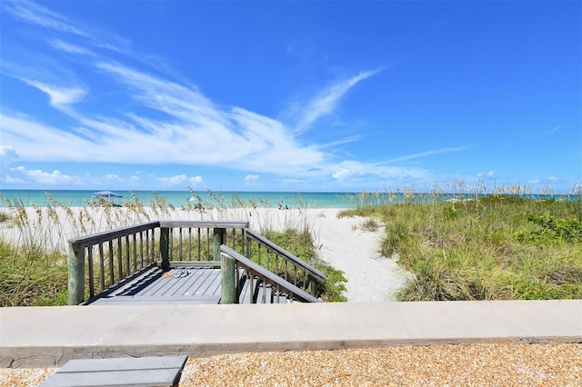
M3 189L582 182L579 1L2 1Z

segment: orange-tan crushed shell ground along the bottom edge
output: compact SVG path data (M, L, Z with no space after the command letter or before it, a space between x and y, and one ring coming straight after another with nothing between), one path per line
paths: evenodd
M0 369L37 386L55 368ZM471 344L242 352L186 362L179 386L581 386L582 344Z

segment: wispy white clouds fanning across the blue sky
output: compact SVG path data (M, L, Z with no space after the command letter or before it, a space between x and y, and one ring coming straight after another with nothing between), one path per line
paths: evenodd
M26 23L58 32L57 36L47 34L39 39L48 42L59 53L82 55L83 61L73 59L75 65L82 63L92 74L114 83L116 93L127 102L100 106L100 114L91 114L78 103L95 99L89 87L92 80L83 78L88 84L85 86L76 74L70 74L71 70L61 68L65 65L60 63L49 67L47 74L35 73L34 69L18 70L18 64L12 65L15 71L11 76L47 94L50 105L67 114L72 121L65 127L56 127L30 116L1 113L3 143L25 162L215 165L286 176L287 180L294 181L329 179L344 183L369 175L389 179L424 174L418 169L338 161L336 154L328 151L330 147L356 142L360 138L357 134L331 138L326 144L308 144L301 140L301 134L318 120L336 112L341 99L356 84L380 70L363 71L328 84L315 91L314 97L306 99L307 102L297 111L301 113L296 112L293 119L281 120L240 106L216 104L187 81L170 80L169 76L126 65L120 59L123 55L116 55L113 60L106 53L97 53L98 48L116 51L130 42L113 34L100 35L102 32L95 32L95 29L42 5L11 3L4 5L3 9ZM75 44L63 37L64 34L75 35ZM429 151L390 162L460 149ZM12 178L37 176L46 183L48 176L65 179L59 174L58 171L43 173L35 170L33 173L21 170L19 177L14 175ZM123 179L120 176L101 178ZM202 183L201 176L186 174L156 179L165 186ZM258 179L259 174L248 174L245 181L256 182ZM134 175L129 180L137 182L141 177Z

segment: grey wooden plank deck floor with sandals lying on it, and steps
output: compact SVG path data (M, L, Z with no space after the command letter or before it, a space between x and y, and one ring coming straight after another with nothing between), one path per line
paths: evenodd
M251 297L255 303L288 302L284 294L277 297L270 286L256 279L252 281L254 289L251 292L251 281L244 274L243 270L239 271L240 303L251 303ZM166 272L152 267L114 292L88 304L216 304L220 303L221 291L220 263L185 263Z

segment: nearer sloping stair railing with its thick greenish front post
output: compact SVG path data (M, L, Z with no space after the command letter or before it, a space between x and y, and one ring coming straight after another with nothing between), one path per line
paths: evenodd
M251 303L279 303L281 298L304 303L321 303L313 295L299 289L293 283L269 272L246 256L233 249L220 246L222 253L222 303L242 303L243 281L248 281ZM241 270L242 269L242 270ZM242 275L239 273L243 272Z

